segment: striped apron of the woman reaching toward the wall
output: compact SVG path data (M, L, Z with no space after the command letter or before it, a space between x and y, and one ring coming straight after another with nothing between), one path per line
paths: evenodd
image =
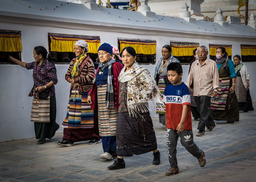
M33 98L31 109L32 122L50 122L50 96L47 99Z

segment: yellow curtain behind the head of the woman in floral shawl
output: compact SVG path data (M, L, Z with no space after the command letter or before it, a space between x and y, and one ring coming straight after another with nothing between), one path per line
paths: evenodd
M136 50L137 54L157 54L157 42L155 40L118 39L118 41L120 43L120 51L124 47L131 46Z

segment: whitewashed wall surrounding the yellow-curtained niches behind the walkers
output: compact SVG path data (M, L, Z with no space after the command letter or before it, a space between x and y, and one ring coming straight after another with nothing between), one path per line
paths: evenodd
M156 59L161 58L161 48L172 41L199 42L200 45L208 46L214 44L232 44L232 54L240 53L240 43L250 44L249 42L222 41L215 39L195 39L182 37L168 37L154 35L139 35L129 33L116 33L102 31L75 30L75 27L54 28L40 27L36 25L0 23L1 29L21 31L22 37L22 60L32 62L33 47L37 45L45 46L48 49L48 33L77 34L100 36L101 43L107 42L117 46L117 38L138 38L138 39L155 39L157 41ZM210 38L210 37L209 37ZM90 47L89 47L90 48ZM256 63L245 63L250 73L250 92L253 101L256 101ZM152 75L154 75L155 65L144 65ZM56 65L58 84L56 88L57 117L56 122L61 125L62 120L66 117L70 84L65 80L65 73L68 64ZM186 82L188 65L183 65L183 82ZM32 70L26 70L18 65L1 64L0 65L0 88L1 88L1 125L0 125L0 142L8 140L17 140L34 137L34 123L30 122L30 112L32 97L28 94L33 86ZM151 112L152 117L156 117L155 111ZM61 133L62 127L57 131Z

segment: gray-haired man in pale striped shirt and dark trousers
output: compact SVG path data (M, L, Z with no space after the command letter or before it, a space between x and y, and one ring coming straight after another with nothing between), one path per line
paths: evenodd
M196 136L204 136L206 132L212 131L217 125L210 117L210 99L217 95L219 87L219 72L214 60L207 58L208 48L201 45L197 49L199 60L196 60L190 68L186 85L188 88L194 84L194 96L200 113L198 123L199 132Z

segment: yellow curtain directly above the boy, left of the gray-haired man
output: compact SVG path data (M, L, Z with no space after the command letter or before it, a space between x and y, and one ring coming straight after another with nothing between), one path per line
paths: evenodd
M173 56L193 56L193 50L199 47L199 43L170 42Z

